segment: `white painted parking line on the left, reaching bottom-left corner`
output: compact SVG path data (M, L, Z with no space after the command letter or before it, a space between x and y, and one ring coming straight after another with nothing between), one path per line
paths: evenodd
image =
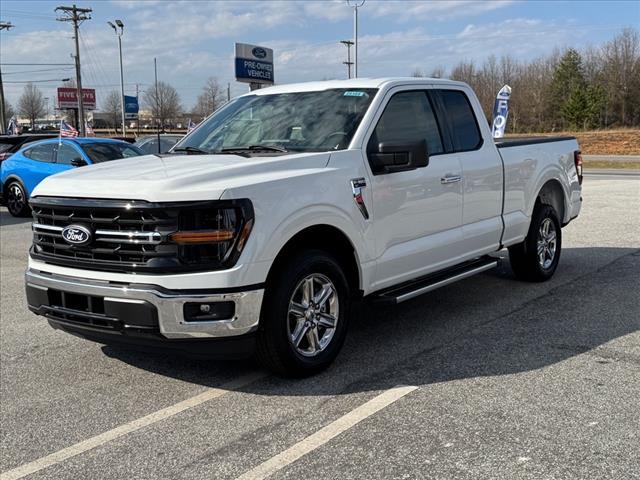
M176 403L175 405L171 405L170 407L163 408L162 410L158 410L157 412L150 413L149 415L138 418L129 423L125 423L123 425L120 425L119 427L114 428L113 430L109 430L107 432L96 435L95 437L87 438L86 440L78 442L75 445L63 448L58 452L39 458L38 460L34 460L33 462L25 463L24 465L14 468L13 470L8 470L0 474L0 480L17 480L18 478L26 477L27 475L31 475L32 473L38 472L52 465L56 465L60 462L68 460L71 457L80 455L81 453L91 450L92 448L104 445L105 443L120 438L123 435L135 432L136 430L140 430L143 427L152 425L161 420L165 420L190 408L197 407L198 405L208 402L209 400L213 400L214 398L221 397L225 393L242 388L265 376L266 373L251 373L249 375L244 375L235 380L232 380L231 382L225 383L218 388L209 388L199 395L183 400L182 402Z

